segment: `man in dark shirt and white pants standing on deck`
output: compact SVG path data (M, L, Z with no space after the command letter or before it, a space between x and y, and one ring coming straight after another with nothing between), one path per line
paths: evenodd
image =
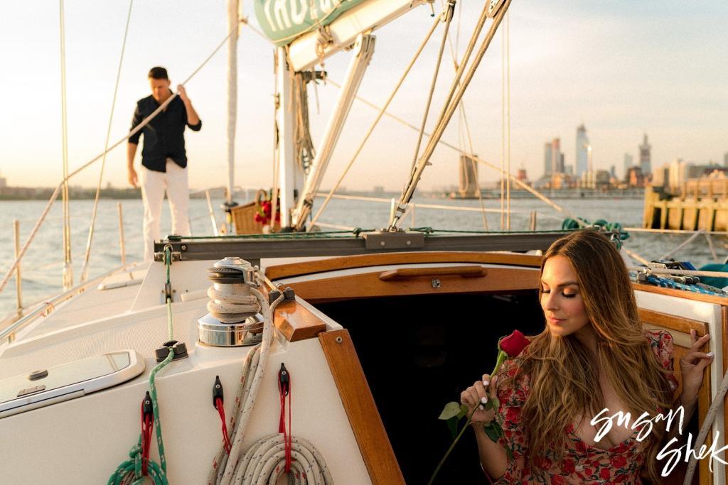
M173 95L167 69L151 68L148 77L151 96L138 100L131 129ZM134 169L134 156L139 137L144 135L144 146L141 151L144 260L154 259L154 241L159 239L159 217L162 215L165 191L172 213L172 233L180 236L189 236L190 233L187 156L184 149L185 125L192 131L198 132L202 128L202 121L180 84L177 87L177 96L165 109L149 121L141 131L129 138L127 145L129 183L137 187L139 180Z

